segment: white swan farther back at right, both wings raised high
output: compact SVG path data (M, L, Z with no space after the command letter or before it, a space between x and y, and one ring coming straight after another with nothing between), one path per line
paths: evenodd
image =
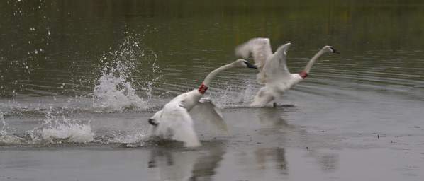
M235 54L247 59L250 54L255 61L257 69L257 82L264 86L255 95L251 106L267 106L289 90L292 86L301 82L308 76L311 67L316 60L325 53L337 53L332 46L324 46L318 51L306 64L305 69L299 74L290 74L286 65L287 50L291 43L281 45L277 51L272 54L271 45L268 38L253 38L235 48ZM275 107L275 102L272 104Z

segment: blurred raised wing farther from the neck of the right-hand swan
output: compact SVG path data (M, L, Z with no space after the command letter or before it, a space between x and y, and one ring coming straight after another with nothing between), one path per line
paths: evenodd
M253 38L235 48L235 55L237 56L247 59L250 54L252 54L257 69L262 71L267 58L272 55L269 39L264 37Z

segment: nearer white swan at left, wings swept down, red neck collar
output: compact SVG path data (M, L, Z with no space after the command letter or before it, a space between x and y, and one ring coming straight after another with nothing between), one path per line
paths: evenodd
M215 124L218 129L226 131L227 125L223 121L221 113L211 103L211 100L202 97L208 90L212 79L221 71L230 68L256 69L257 67L245 59L238 59L211 71L201 83L199 89L178 95L165 104L162 110L150 117L148 120L149 124L152 125L150 135L182 141L186 147L201 146L196 132L194 132L193 120L189 113L200 114L204 120Z

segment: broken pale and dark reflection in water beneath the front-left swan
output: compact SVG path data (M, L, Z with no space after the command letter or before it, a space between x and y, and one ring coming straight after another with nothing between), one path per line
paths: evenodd
M224 154L222 146L199 152L158 148L151 151L148 168L157 170L160 180L211 180Z

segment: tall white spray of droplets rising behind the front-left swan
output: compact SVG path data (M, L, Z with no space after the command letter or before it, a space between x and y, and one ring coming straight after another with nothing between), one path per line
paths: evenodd
M155 52L143 48L136 35L127 37L117 51L102 56L101 62L105 64L98 85L94 87L94 107L119 112L146 110L152 86L162 77L156 59ZM141 67L153 72L143 75ZM133 76L143 77L143 82L135 81ZM145 99L137 95L134 86L144 91Z

